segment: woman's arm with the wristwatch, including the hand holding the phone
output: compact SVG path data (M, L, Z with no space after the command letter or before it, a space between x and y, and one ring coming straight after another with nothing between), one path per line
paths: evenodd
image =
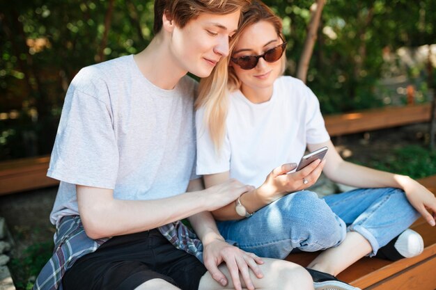
M283 164L272 170L261 186L247 193L243 193L240 197L240 202L250 214L254 211L258 211L258 209L265 207L267 204L278 200L288 193L300 191L315 184L318 177L320 177L324 164L324 161L313 161L313 163L302 170L289 174L287 174L287 172L295 169L297 165L295 163ZM215 184L225 182L229 176L228 171L205 175L203 177L205 187L209 188ZM306 184L303 183L304 179L307 180ZM236 213L235 202L231 202L220 209L212 211L212 215L217 220L240 220L244 218Z

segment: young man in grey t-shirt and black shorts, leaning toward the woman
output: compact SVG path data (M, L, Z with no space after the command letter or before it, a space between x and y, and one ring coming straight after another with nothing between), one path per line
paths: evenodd
M196 83L185 75L208 76L228 55L246 4L156 0L146 49L77 74L48 172L61 180L55 251L34 289L313 289L303 268L219 235L208 211L250 186L203 190L192 174Z

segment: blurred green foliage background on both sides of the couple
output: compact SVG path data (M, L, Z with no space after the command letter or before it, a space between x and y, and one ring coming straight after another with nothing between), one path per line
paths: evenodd
M293 76L314 2L265 1L283 17ZM435 11L435 0L327 1L307 74L323 113L405 104L409 85L428 101ZM1 1L0 160L49 154L75 74L141 51L152 26L151 0Z

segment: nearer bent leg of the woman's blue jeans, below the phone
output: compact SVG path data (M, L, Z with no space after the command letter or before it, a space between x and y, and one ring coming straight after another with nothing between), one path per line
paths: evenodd
M325 250L345 239L346 226L324 200L297 191L259 209L251 218L217 222L226 240L260 257L285 258L297 248Z

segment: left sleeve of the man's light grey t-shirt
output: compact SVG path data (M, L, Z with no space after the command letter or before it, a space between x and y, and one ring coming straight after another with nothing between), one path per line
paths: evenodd
M114 189L118 147L111 108L104 102L109 97L97 96L101 94L98 88L84 89L87 92L74 83L68 89L47 176L70 184Z

